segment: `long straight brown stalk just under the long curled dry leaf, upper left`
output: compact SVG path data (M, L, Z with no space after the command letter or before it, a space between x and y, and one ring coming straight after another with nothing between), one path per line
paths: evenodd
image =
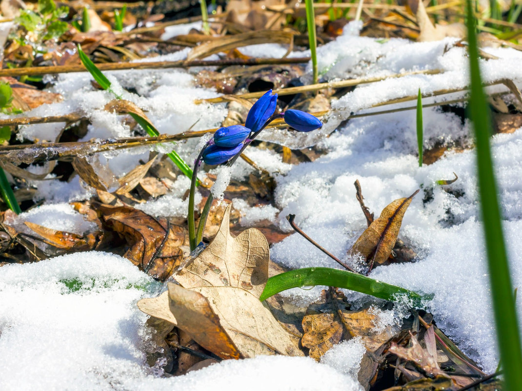
M147 63L99 63L100 70L125 69L167 69L186 68L192 66L229 66L229 65L269 65L269 64L300 64L310 61L310 57L299 58L228 58L224 60L193 60L193 61L155 61ZM87 72L83 65L36 66L27 68L0 69L0 77L33 76L56 73Z

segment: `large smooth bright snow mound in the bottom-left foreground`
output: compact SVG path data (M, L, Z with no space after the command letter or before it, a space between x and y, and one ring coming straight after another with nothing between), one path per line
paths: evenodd
M147 315L136 301L159 283L128 260L85 252L0 268L0 389L362 391L352 377L303 357L228 360L180 377L148 368ZM354 361L355 358L352 358ZM30 368L30 371L27 369Z

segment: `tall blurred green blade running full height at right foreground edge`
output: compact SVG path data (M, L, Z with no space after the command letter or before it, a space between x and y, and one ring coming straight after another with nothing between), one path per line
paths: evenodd
M475 130L477 174L488 256L493 312L500 359L504 368L505 391L522 390L522 349L513 285L509 274L499 200L490 150L491 122L479 68L479 51L471 0L467 0L469 69L471 77L470 114Z

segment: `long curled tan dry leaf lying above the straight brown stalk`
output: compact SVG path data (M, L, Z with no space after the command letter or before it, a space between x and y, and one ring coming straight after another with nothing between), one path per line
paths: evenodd
M193 61L197 58L208 57L211 54L226 52L227 50L241 48L242 46L256 45L260 43L280 43L290 45L290 51L293 46L293 33L290 31L275 30L258 30L250 31L235 35L226 35L220 37L219 40L211 40L204 42L187 55L187 61Z

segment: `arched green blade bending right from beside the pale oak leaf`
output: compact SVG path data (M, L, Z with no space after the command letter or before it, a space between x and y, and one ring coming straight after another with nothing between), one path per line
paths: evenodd
M370 294L379 299L396 301L400 297L412 300L414 306L422 306L423 300L430 300L430 295L421 295L407 289L390 285L385 282L347 270L333 269L329 267L309 267L286 271L266 282L265 290L259 300L263 301L270 296L287 289L326 285L337 288L350 289L361 293Z

